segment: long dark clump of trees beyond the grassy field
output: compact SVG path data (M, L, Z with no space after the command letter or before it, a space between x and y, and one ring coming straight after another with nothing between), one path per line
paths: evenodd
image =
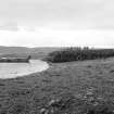
M49 62L58 63L106 59L111 56L114 56L113 49L67 48L49 53L46 60Z

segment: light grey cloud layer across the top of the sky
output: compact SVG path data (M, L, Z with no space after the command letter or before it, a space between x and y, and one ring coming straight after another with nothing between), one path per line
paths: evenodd
M3 0L0 20L21 25L66 23L74 28L114 28L114 0ZM65 26L66 26L65 25Z

